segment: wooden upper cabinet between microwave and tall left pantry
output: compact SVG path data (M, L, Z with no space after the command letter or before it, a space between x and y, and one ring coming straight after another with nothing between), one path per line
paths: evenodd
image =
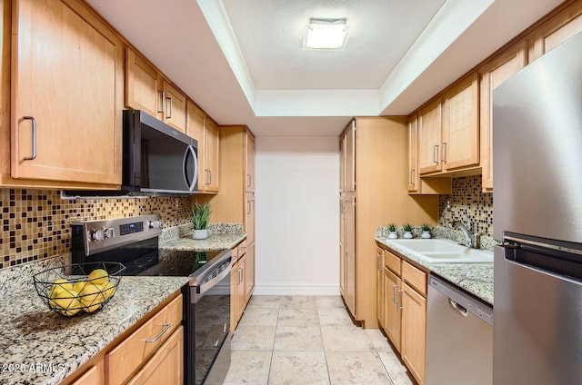
M218 192L218 126L196 104L187 102L188 135L198 141L198 191Z

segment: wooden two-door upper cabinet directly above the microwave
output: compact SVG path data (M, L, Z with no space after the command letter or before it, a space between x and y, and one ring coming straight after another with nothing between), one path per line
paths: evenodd
M125 52L125 106L143 110L186 133L186 100L156 67L127 47Z

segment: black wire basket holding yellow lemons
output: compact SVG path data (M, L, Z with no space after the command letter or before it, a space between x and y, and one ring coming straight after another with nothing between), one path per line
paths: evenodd
M55 267L33 276L38 296L65 317L94 313L115 295L125 266L119 262L85 262Z

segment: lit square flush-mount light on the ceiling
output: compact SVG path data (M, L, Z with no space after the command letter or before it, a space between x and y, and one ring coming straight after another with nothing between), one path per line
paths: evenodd
M303 36L303 49L343 51L347 35L346 19L311 19Z

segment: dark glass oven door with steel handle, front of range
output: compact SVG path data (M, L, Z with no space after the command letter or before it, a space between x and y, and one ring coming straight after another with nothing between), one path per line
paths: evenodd
M228 257L227 261L227 264L221 264L221 271L207 271L209 280L201 280L203 283L200 286L190 286L190 324L186 339L187 384L222 384L230 367L232 257Z

